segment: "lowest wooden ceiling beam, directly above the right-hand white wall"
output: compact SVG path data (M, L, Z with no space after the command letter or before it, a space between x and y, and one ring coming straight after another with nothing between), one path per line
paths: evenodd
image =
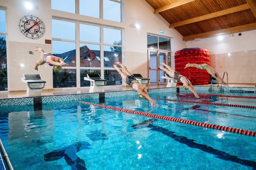
M246 24L246 25L241 25L237 27L231 27L231 28L226 28L222 30L216 30L216 31L210 31L206 33L201 33L201 34L195 34L195 35L190 35L190 36L184 36L183 41L189 41L197 38L206 38L206 37L212 37L216 36L219 34L227 34L227 33L237 33L237 32L242 32L242 31L249 31L249 30L255 30L256 29L256 23L252 24Z

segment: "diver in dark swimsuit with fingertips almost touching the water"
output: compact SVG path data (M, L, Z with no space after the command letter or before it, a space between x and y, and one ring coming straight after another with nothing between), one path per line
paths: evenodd
M121 62L116 62L116 64L120 65L124 69L125 73L121 70L121 68L118 68L117 65L113 65L115 69L118 71L118 73L121 75L122 79L125 80L126 83L133 88L133 90L138 92L139 97L140 95L144 96L149 100L152 106L155 106L155 101L151 97L149 97L147 88L143 84L139 83L134 77L134 75L130 73L127 70L126 66L124 66Z

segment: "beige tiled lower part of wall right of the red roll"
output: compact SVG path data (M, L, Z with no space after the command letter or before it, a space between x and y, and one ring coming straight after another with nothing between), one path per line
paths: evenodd
M228 83L256 84L256 50L211 54L210 65Z

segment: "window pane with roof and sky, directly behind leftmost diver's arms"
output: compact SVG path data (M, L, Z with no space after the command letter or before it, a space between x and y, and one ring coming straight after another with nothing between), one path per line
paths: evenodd
M76 43L65 41L52 41L53 55L63 58L68 67L76 66ZM63 67L64 68L64 67Z

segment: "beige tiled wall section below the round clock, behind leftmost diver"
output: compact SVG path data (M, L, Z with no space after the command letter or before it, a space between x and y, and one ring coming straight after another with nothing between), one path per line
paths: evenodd
M25 43L25 42L9 42L10 48L10 73L9 90L26 90L26 83L21 82L23 74L40 74L42 79L47 83L45 89L53 88L52 80L52 67L48 64L43 64L38 67L38 71L34 69L35 62L39 59L40 53L34 51L35 46L42 48L45 52L52 51L51 44L37 44L37 43ZM29 54L29 51L32 51Z

